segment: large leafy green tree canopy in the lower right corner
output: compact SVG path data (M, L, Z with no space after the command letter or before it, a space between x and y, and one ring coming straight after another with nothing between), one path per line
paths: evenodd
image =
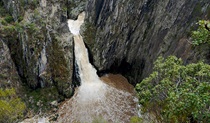
M184 65L170 56L159 57L154 71L137 84L142 112L161 122L210 122L210 65Z

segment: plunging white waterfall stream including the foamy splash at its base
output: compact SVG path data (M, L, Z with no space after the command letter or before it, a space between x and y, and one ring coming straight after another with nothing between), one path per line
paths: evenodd
M79 34L80 26L84 22L85 13L81 13L76 21L68 20L68 26L71 33L74 34L74 49L75 58L79 68L79 75L81 79L81 87L79 88L81 96L81 101L88 99L95 99L97 91L101 89L104 84L100 81L98 75L96 74L96 69L90 64L88 58L88 52L83 42L82 36ZM92 95L91 97L84 96L84 94Z

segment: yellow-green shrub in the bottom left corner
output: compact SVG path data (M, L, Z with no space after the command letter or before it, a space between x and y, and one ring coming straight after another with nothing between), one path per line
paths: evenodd
M12 123L17 122L18 119L23 117L23 112L26 106L17 97L15 90L0 89L0 122Z

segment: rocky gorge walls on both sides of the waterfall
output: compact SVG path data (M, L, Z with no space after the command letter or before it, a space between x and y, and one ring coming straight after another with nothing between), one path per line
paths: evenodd
M0 73L0 79L32 90L49 88L50 99L72 94L73 36L67 19L85 9L82 35L99 73L121 73L135 85L159 55L176 55L186 64L210 62L207 46L190 43L196 22L210 19L209 0L2 0L0 5L0 61L6 65L0 68L15 77ZM5 23L7 16L12 21Z

